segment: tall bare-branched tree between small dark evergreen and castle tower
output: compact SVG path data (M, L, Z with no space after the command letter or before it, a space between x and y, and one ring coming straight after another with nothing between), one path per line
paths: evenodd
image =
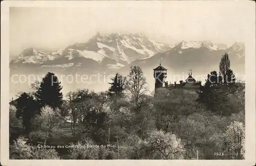
M131 66L130 73L126 81L127 90L130 92L132 101L138 104L139 98L147 91L146 78L139 66Z

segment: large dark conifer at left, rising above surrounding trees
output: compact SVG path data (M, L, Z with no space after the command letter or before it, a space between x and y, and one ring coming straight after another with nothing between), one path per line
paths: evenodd
M52 108L57 108L62 105L62 86L58 81L58 77L51 72L48 72L41 80L40 87L37 89L35 97L40 108L49 105Z

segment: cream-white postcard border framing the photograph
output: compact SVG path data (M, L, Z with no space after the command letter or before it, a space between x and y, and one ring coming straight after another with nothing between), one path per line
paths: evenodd
M180 4L179 4L180 3ZM9 160L9 7L241 6L248 16L246 34L245 160ZM200 11L199 11L200 12ZM225 17L223 15L223 17ZM236 18L234 18L236 19ZM239 21L239 20L238 20ZM232 27L234 28L234 27ZM254 165L255 160L255 3L253 1L2 1L1 2L1 164L2 165Z

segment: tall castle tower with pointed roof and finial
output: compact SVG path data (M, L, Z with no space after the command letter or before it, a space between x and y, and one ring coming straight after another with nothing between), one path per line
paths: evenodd
M167 69L160 65L153 69L154 70L154 78L155 78L155 89L162 88L165 84L165 79L167 77Z

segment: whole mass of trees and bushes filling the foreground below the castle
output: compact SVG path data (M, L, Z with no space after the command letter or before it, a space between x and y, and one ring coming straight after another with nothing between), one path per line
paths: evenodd
M108 91L78 89L66 99L49 72L10 105L10 158L243 159L245 84L228 54L219 70L198 93L147 95L143 71L132 66L127 76L116 73Z

